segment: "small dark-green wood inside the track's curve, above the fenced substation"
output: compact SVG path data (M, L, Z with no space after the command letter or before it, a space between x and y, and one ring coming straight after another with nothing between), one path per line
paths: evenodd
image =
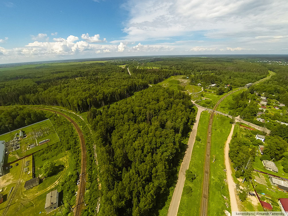
M22 128L47 119L41 110L31 110L24 107L0 109L0 134Z

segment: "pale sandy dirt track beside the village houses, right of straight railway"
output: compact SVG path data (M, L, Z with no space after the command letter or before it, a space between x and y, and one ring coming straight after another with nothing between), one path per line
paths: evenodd
M234 130L234 124L232 124L232 128L230 131L230 134L227 138L227 141L225 143L225 151L224 151L224 160L225 160L225 166L226 166L226 175L227 175L227 183L228 183L228 189L229 189L229 195L230 195L230 205L231 205L231 211L239 211L238 205L237 205L237 194L236 194L236 185L233 181L232 177L232 170L230 166L230 158L229 158L229 143L232 139L233 130Z

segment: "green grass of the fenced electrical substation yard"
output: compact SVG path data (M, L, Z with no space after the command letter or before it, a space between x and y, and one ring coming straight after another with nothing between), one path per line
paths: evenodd
M19 139L18 143L20 145L20 149L13 150L12 148L9 149L9 156L7 159L7 162L12 162L20 157L23 157L25 155L29 155L31 153L34 153L40 149L43 149L44 147L47 147L48 145L53 145L54 143L57 143L60 141L51 121L49 119L44 120L42 122L38 122L36 124L26 126L23 128L19 128L17 130L14 130L12 132L8 132L6 134L0 135L0 140L4 140L6 142L6 145L9 146L9 141L14 139L14 136L16 133L22 129L24 133L24 138ZM40 132L39 137L36 137L33 133ZM40 141L50 139L48 143L44 143L39 145ZM37 143L37 145L36 145ZM29 148L27 146L30 146L32 144L35 144L36 146L33 148Z

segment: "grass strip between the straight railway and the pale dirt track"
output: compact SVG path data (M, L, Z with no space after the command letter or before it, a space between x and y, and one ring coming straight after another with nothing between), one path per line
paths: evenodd
M225 215L224 210L231 212L230 197L226 179L224 163L224 146L232 125L229 118L215 115L212 125L211 159L210 159L210 185L208 215ZM215 161L213 163L213 158ZM223 198L226 197L227 200ZM226 207L228 204L228 208Z

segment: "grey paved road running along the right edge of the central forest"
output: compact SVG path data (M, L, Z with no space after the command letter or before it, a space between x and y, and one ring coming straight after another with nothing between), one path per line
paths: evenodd
M183 162L180 166L177 184L176 184L173 196L172 196L172 200L171 200L171 203L169 206L167 216L176 216L177 215L180 200L181 200L181 195L182 195L182 191L183 191L183 186L184 186L184 182L185 182L185 172L189 168L192 150L193 150L193 146L194 146L195 139L196 139L200 114L203 110L204 109L202 109L202 108L198 108L195 123L194 123L193 129L190 133L190 137L189 137L189 140L187 143L188 147L186 149L185 156L183 158Z

